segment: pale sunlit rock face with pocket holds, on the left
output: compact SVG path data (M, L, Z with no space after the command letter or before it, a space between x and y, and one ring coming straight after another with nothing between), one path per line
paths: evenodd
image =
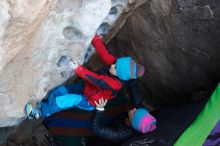
M0 127L19 123L28 101L42 99L74 74L61 57L87 61L97 29L103 36L116 33L145 1L0 1Z

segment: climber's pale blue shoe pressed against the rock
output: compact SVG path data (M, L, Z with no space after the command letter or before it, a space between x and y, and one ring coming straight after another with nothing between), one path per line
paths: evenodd
M39 119L40 118L39 110L33 107L33 105L30 103L26 104L25 112L28 116L28 119Z

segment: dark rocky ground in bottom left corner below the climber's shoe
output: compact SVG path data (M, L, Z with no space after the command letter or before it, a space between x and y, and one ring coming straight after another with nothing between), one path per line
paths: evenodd
M49 135L42 120L24 120L18 126L0 129L1 146L49 146Z

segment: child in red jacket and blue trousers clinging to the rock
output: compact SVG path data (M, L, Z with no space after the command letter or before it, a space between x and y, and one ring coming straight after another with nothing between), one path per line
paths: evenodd
M85 83L59 86L51 91L46 100L40 101L37 107L28 103L25 106L25 111L30 119L45 118L59 111L75 107L89 111L94 110L95 101L102 97L107 100L116 97L118 92L128 84L131 84L128 86L132 88L133 97L140 97L133 79L144 74L144 67L137 64L131 57L116 59L108 53L98 35L93 38L92 45L108 66L102 68L97 74L76 62L70 62L69 65L79 77L86 80ZM141 102L141 100L135 101ZM141 103L135 104L139 106Z

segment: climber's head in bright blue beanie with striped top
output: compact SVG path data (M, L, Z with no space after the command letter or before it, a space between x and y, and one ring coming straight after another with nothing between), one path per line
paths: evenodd
M131 57L120 57L111 65L109 72L121 80L136 79L144 74L144 67Z

